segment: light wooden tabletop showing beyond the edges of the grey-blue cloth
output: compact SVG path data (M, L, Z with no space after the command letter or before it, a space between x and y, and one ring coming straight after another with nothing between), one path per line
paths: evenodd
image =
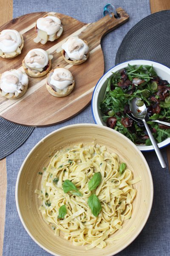
M122 5L120 1L120 5ZM13 1L0 0L0 26L12 19ZM151 12L159 12L170 9L169 0L150 0ZM170 168L170 146L167 147L167 157ZM0 160L0 255L3 254L3 231L5 224L5 205L6 205L6 159Z

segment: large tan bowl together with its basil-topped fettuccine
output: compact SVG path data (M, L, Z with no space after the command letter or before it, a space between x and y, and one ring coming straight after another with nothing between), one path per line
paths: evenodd
M141 152L122 134L98 125L49 134L17 178L21 221L52 255L118 253L144 227L152 200L152 177Z

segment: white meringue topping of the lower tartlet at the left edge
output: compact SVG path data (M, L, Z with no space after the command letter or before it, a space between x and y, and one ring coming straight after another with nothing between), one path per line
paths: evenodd
M0 89L5 93L21 93L23 85L28 84L28 76L20 70L9 70L2 74Z

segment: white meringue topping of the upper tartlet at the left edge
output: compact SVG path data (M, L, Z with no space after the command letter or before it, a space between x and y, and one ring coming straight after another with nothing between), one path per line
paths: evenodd
M14 29L4 29L0 33L0 50L3 52L14 52L22 44L20 33Z

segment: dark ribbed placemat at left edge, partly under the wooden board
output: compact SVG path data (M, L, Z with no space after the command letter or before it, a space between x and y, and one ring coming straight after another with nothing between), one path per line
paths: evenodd
M17 125L0 117L0 159L20 147L33 130L33 127Z

